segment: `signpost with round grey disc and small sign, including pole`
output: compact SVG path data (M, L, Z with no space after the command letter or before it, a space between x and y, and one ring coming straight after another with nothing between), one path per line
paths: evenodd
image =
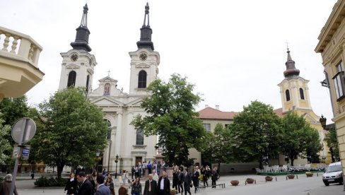
M28 159L30 148L23 146L24 143L30 141L36 133L36 124L33 119L24 117L19 119L12 127L11 135L14 141L18 143L18 146L13 147L13 158L16 158L16 162L13 168L13 179L11 183L10 195L13 195L14 185L16 183L18 161L23 158Z

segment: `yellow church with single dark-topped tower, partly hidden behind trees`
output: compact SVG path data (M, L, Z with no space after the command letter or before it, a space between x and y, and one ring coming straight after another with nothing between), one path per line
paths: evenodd
M283 115L289 111L296 112L299 116L310 123L310 126L317 129L320 139L322 141L323 150L320 151L320 162L329 164L332 162L329 148L324 142L324 129L322 128L319 120L320 117L312 111L310 105L310 96L308 88L308 80L302 78L300 70L296 69L295 61L292 60L290 51L288 49L288 59L285 63L286 71L283 72L284 79L278 84L281 93L281 103ZM305 164L303 161L298 160L300 164ZM297 164L298 162L296 162Z

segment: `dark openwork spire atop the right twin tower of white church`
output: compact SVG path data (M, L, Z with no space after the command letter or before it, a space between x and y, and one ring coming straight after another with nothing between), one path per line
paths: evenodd
M146 48L146 49L154 50L153 42L151 41L152 29L150 28L150 18L148 15L149 9L150 7L148 6L148 3L146 3L144 24L140 29L140 40L139 42L136 42L138 49ZM146 24L146 21L147 21L147 24Z

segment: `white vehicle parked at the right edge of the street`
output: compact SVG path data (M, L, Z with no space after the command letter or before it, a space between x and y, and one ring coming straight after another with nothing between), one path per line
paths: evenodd
M343 171L340 162L333 162L328 165L326 172L322 175L322 181L326 186L330 183L343 183Z

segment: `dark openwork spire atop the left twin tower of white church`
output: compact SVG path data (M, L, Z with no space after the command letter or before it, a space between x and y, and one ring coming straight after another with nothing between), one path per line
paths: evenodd
M91 47L88 45L88 4L83 7L83 18L81 18L81 25L76 28L76 40L71 42L73 49L83 49L86 52L91 52Z

